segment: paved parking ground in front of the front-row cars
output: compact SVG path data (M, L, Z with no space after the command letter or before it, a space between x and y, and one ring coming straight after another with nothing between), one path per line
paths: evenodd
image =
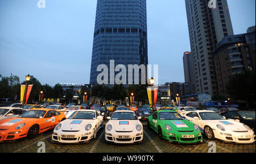
M106 124L106 121L104 122ZM207 140L204 137L203 144L180 145L160 140L157 134L148 130L146 122L143 122L144 139L141 144L135 145L114 145L105 143L104 129L97 133L96 140L85 144L53 144L51 142L52 131L41 133L34 139L22 139L15 143L0 143L0 153L4 152L31 152L36 153L43 141L46 145L46 153L207 153L212 146L209 142L216 143L217 153L255 153L255 144L226 144L218 140ZM105 128L105 127L104 127Z

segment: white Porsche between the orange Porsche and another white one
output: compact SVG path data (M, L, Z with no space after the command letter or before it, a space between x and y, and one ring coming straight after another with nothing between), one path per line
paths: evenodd
M68 119L55 127L52 141L57 143L85 143L95 139L103 127L103 117L95 110L73 111Z

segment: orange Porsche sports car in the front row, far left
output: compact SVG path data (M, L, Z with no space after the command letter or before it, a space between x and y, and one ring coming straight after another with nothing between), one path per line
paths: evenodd
M23 137L33 138L39 133L55 128L65 115L53 109L32 109L0 121L0 142Z

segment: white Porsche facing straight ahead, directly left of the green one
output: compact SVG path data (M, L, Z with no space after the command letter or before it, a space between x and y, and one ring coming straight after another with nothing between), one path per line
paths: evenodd
M142 143L143 126L134 111L115 111L105 127L105 140L116 144Z

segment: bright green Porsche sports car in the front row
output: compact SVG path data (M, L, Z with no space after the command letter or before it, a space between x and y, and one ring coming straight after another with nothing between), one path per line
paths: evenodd
M148 116L147 126L157 132L161 140L187 144L203 142L199 127L183 119L179 113L173 110L155 111Z

